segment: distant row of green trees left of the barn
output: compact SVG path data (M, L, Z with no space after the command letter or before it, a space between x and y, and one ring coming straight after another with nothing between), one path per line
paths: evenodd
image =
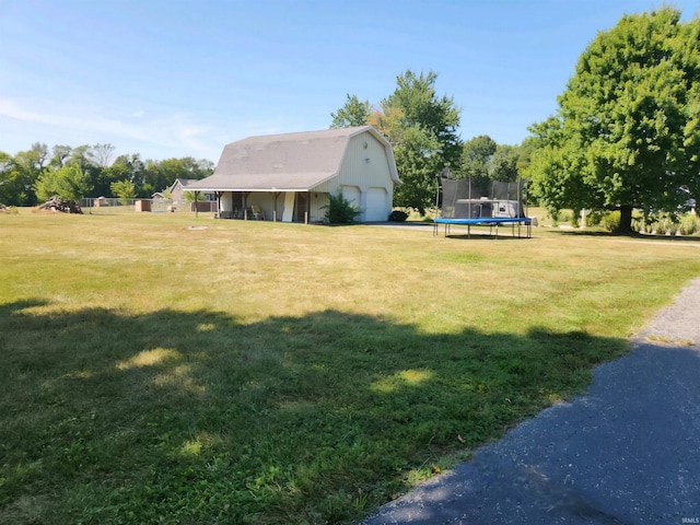
M213 163L191 156L142 160L139 153L114 158L112 144L54 145L35 142L10 155L0 151L0 202L35 206L54 195L79 201L83 197L150 198L178 178L205 178Z

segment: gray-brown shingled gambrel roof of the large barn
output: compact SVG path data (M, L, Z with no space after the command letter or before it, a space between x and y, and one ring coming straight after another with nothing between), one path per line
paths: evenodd
M214 173L187 186L188 190L304 191L338 173L348 141L372 126L300 133L248 137L226 144ZM398 182L398 175L395 176Z

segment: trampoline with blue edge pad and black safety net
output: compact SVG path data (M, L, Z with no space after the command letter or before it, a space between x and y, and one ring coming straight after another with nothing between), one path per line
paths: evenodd
M471 226L489 226L489 233L499 236L500 225L510 225L511 235L517 237L532 236L533 221L525 213L526 180L514 183L499 180L474 184L469 178L452 178L445 168L436 177L438 191L435 208L440 217L433 221L433 235L438 235L440 224L444 224L445 236L450 235L450 226L466 225L467 236L471 237Z

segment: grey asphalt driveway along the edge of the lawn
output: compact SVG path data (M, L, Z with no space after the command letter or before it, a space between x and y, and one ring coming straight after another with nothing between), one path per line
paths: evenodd
M632 342L586 395L362 525L700 524L700 279Z

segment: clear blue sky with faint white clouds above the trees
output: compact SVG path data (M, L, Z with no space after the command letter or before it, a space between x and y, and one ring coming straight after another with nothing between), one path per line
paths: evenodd
M667 2L684 20L700 0ZM0 151L112 143L213 162L252 135L325 129L435 71L464 140L520 143L598 31L652 0L0 0Z

